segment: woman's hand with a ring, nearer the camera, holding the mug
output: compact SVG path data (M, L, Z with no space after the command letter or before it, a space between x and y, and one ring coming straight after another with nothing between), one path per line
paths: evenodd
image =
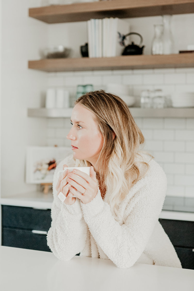
M77 177L79 175L81 178ZM98 191L98 181L93 166L90 167L90 176L80 170L73 169L67 174L67 182L71 185L70 193L79 198L83 204L87 204L96 196ZM77 191L81 192L79 194Z

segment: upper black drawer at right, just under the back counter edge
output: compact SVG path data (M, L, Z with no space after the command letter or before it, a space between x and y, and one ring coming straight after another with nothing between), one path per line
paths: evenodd
M173 246L194 248L194 222L159 219Z

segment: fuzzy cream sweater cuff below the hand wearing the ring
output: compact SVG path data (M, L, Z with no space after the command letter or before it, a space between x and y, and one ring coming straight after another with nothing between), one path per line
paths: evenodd
M101 197L99 188L98 188L96 196L89 203L84 204L80 200L80 204L81 204L83 213L87 213L90 216L95 216L99 212L101 212L104 207L104 201Z

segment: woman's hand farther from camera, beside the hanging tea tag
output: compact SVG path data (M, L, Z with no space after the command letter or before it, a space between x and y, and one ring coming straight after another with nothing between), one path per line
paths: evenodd
M67 168L67 165L63 165L63 170L64 168ZM67 172L66 172L67 171ZM71 187L71 185L67 182L67 174L69 173L69 170L66 170L63 174L60 175L58 182L56 184L55 189L57 190L57 196L60 192L63 193L63 195L65 195L66 199L64 201L65 204L67 205L71 205L75 202L75 199L73 196L74 194L72 194L69 191L69 187ZM63 178L63 179L62 179ZM62 191L61 191L61 187L62 187Z

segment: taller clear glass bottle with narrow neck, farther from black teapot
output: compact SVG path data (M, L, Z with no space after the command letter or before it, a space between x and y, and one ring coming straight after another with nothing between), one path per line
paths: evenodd
M163 54L173 54L174 40L171 32L171 15L163 15Z

